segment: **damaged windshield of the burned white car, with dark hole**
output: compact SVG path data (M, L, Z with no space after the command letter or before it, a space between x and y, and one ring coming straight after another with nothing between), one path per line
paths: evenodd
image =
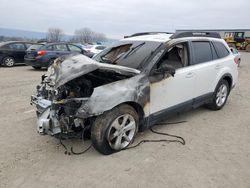
M119 41L105 48L93 59L100 63L121 65L134 69L142 69L142 62L161 43L153 41Z

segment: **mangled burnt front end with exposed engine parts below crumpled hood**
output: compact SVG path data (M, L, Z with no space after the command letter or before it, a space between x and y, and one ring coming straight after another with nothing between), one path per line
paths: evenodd
M37 109L37 131L40 134L71 134L82 131L86 120L76 116L78 108L88 101L91 90L85 83L68 83L53 89L46 79L37 86L31 103Z

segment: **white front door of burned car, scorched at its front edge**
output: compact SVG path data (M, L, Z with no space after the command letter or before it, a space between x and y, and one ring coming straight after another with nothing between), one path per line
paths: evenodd
M154 69L164 63L176 70L174 76L167 74L165 78L150 84L151 121L192 105L195 73L189 66L188 43L180 43L170 49L151 71L152 77Z

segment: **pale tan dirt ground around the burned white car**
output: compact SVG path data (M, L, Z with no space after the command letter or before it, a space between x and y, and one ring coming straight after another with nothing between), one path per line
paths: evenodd
M30 95L45 71L0 67L0 187L250 187L250 53L242 53L239 82L221 111L199 108L155 129L185 138L145 143L110 156L91 148L65 155L59 141L36 133ZM142 139L165 139L150 131ZM67 141L81 151L79 141Z

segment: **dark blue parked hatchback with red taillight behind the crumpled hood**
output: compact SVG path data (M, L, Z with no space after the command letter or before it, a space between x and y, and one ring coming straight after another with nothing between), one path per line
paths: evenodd
M62 55L74 53L90 56L88 52L75 44L47 43L30 46L26 51L24 59L26 65L35 69L41 69L42 67L49 67L56 58Z

